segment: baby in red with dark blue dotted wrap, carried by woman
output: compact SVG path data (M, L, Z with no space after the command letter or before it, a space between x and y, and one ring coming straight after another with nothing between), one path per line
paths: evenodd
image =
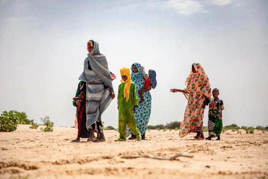
M144 102L144 99L142 97L142 93L145 91L150 91L151 88L155 89L157 82L156 82L156 71L155 70L149 70L148 72L148 77L144 77L145 80L145 84L144 84L144 88L142 88L141 90L138 91L138 94L141 97L141 101L139 102L139 104Z

